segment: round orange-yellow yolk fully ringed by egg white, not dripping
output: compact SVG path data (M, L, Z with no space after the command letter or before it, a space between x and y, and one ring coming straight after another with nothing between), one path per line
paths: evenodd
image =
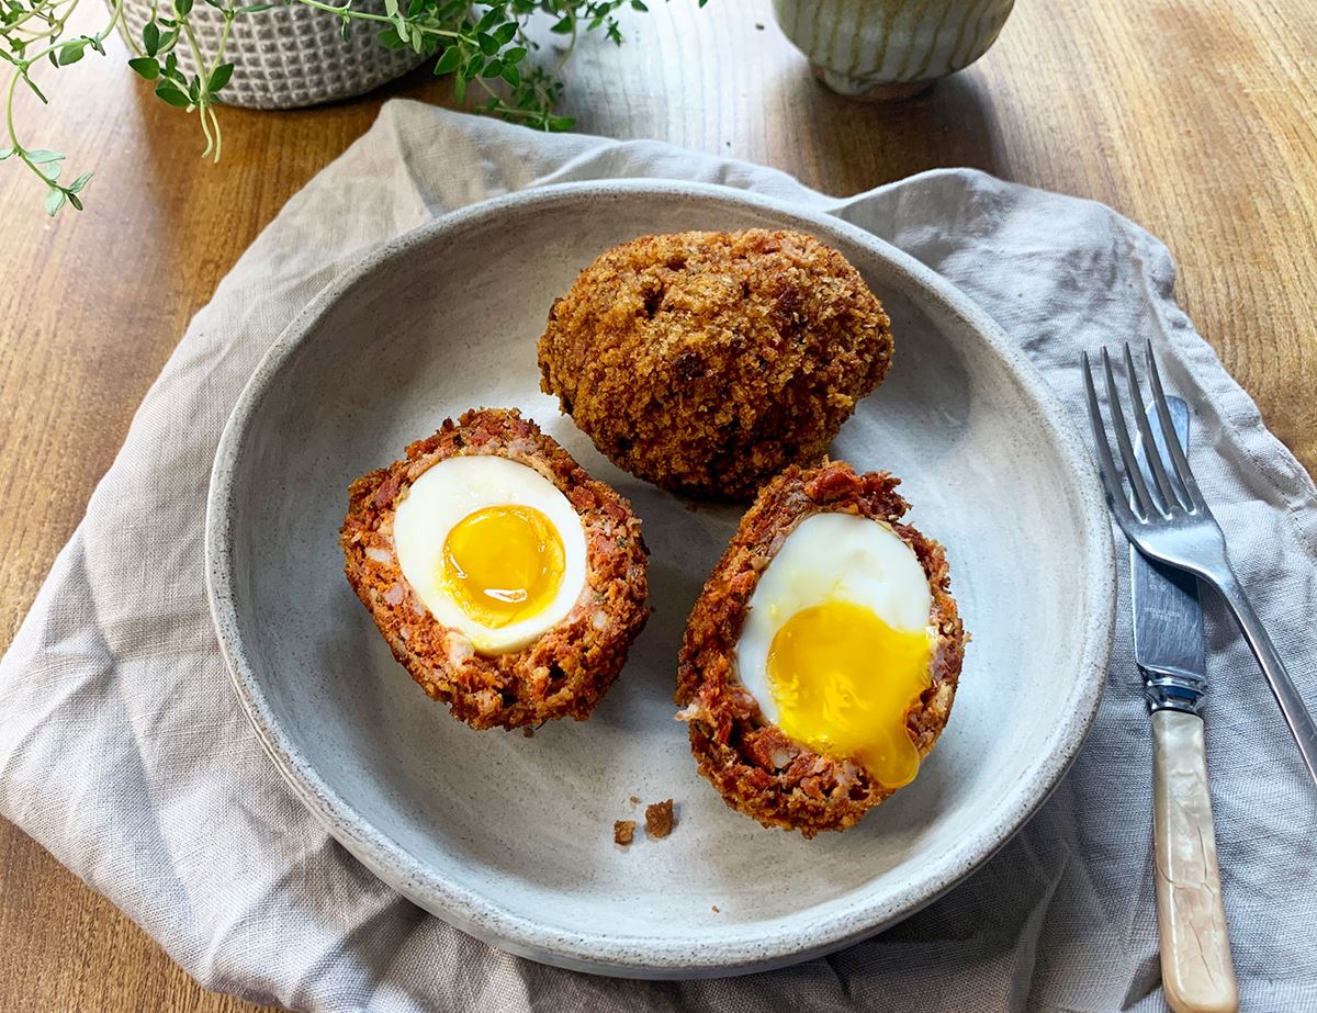
M528 506L491 506L448 532L439 582L471 619L495 630L545 609L562 584L562 539Z

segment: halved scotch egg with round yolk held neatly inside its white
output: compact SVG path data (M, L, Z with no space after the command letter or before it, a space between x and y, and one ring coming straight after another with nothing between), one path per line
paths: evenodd
M394 657L475 728L583 721L648 618L631 506L515 410L353 482L340 543Z

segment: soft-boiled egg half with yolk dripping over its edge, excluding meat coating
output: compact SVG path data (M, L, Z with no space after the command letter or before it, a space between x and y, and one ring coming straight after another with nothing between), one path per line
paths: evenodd
M931 607L923 566L890 527L813 514L760 574L736 676L788 738L900 788L919 771L906 713L930 685Z

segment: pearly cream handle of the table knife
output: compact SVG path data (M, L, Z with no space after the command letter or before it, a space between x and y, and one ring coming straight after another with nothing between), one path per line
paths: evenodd
M1202 718L1152 713L1152 834L1162 987L1175 1013L1235 1013Z

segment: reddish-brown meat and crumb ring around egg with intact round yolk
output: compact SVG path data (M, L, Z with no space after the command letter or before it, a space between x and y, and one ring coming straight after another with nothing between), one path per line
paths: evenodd
M581 516L586 586L562 622L523 651L483 656L440 624L403 577L394 553L394 510L404 490L449 457L497 454L533 468ZM407 456L348 490L340 534L344 570L394 657L453 717L475 728L516 728L549 718L583 721L616 678L648 618L647 556L631 505L598 482L518 411L481 408L407 447Z

